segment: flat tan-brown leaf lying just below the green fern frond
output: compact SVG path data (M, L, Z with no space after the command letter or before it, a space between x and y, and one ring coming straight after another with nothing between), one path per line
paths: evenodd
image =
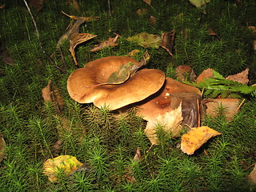
M212 117L216 117L218 114L218 108L222 106L224 108L223 113L226 115L226 118L230 120L234 117L238 111L238 106L240 100L238 98L214 98L207 101L205 99L203 102L206 102L206 114Z

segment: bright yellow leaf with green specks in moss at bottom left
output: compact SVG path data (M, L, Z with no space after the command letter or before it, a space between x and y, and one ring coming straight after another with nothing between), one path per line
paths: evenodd
M83 164L77 158L70 155L61 155L57 158L49 158L43 163L43 174L48 176L50 182L58 182L58 174L64 173L66 176L77 170Z

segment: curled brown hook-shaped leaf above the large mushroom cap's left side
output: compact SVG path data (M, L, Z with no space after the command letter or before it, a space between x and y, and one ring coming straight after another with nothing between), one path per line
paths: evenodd
M75 47L78 46L82 42L86 42L91 38L95 38L97 35L95 34L74 34L73 38L70 39L70 53L74 58L75 65L78 66L77 58L75 57Z

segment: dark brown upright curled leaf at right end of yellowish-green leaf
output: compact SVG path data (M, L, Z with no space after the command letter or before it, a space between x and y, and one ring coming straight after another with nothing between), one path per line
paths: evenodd
M165 49L171 57L174 57L173 48L175 33L175 30L172 30L169 33L162 34L162 42L160 44L160 46L162 46L162 48Z

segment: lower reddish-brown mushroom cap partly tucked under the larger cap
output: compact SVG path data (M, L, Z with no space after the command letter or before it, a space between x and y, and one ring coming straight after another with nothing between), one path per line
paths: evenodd
M201 101L200 94L200 90L194 86L186 85L172 78L166 78L166 83L158 94L146 98L146 102L138 106L138 115L146 121L150 121L158 115L164 115L178 108L182 102L183 122L192 125L194 119L198 118L196 100Z

